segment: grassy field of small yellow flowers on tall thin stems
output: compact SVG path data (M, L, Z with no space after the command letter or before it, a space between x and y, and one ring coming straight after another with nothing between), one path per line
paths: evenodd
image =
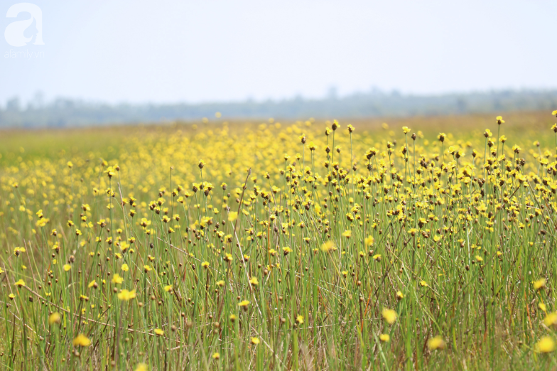
M0 368L556 369L556 114L4 131Z

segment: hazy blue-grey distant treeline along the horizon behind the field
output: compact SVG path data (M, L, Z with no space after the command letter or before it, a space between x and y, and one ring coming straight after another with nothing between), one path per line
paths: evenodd
M0 109L0 127L80 127L91 124L147 123L175 120L305 119L409 117L445 114L499 113L557 108L557 90L505 90L448 95L402 95L398 92L358 93L345 97L265 102L206 104L99 104L57 99L49 104L28 104L17 99Z

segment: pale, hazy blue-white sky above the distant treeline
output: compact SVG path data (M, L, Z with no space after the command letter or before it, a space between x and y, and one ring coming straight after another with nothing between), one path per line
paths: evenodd
M0 106L557 88L553 0L29 1L12 46L31 14L0 0Z

